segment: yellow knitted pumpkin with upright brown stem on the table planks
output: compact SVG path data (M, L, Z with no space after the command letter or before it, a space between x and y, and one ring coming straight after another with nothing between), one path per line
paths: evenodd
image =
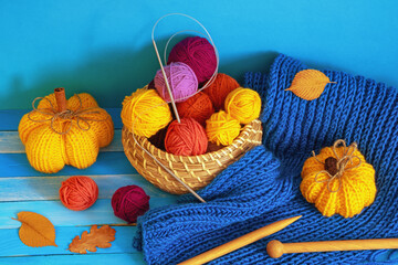
M100 148L112 142L112 118L90 94L66 102L63 88L56 88L33 108L22 117L18 131L38 171L55 173L65 165L87 168L96 161Z

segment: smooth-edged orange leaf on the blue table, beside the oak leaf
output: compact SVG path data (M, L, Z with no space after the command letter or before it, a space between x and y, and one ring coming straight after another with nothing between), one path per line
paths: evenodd
M27 246L57 246L55 244L54 225L43 215L35 212L19 212L17 214L21 227L19 236Z

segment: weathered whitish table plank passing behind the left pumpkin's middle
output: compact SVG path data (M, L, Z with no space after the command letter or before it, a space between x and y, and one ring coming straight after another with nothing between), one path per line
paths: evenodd
M122 130L116 129L109 146L101 148L104 151L123 151ZM25 148L21 142L18 131L0 131L0 153L24 153Z

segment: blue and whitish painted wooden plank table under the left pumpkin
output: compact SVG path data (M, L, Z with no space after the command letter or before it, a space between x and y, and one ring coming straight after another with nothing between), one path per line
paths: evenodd
M18 124L29 110L0 110L0 264L145 264L142 253L132 246L136 227L116 218L111 206L113 193L121 187L137 184L150 195L150 208L176 202L176 197L151 186L130 166L123 152L119 108L107 109L115 123L113 142L101 150L97 161L85 170L66 166L55 174L35 171L18 136ZM98 200L85 211L71 211L59 198L61 182L71 176L87 176L100 188ZM29 247L19 239L20 222L12 220L21 211L46 216L54 225L59 245ZM109 248L76 254L67 251L73 237L93 224L116 224L116 240Z

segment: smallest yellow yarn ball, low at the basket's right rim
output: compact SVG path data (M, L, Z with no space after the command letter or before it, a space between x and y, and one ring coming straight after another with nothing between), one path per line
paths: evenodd
M229 146L240 134L240 123L228 113L220 110L206 120L206 134L209 141Z

